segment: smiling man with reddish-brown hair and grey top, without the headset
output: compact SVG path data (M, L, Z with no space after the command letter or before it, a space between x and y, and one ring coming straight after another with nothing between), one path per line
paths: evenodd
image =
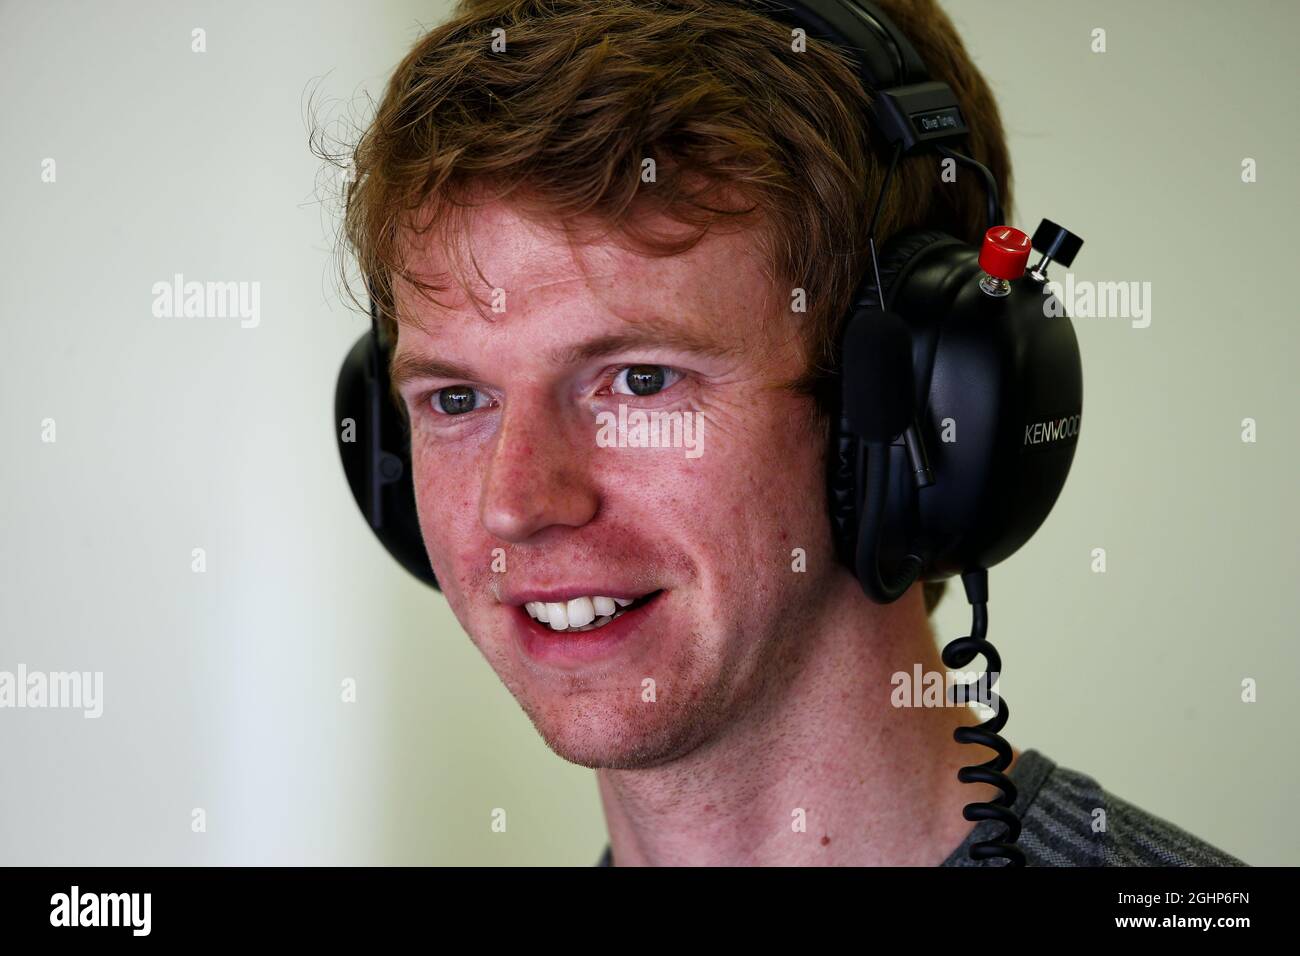
M931 0L883 4L996 104ZM467 0L360 142L347 235L390 341L421 533L476 646L594 767L618 865L966 865L942 585L870 602L835 559L827 381L884 177L838 51L728 0ZM983 232L902 160L879 234ZM978 756L971 750L976 749ZM1238 864L1017 750L1030 864ZM1098 826L1100 822L1100 826Z

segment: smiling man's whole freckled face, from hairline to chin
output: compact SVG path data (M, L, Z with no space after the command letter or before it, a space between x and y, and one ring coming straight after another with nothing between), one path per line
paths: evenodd
M489 307L398 290L394 378L434 572L562 757L684 756L779 692L837 574L824 442L784 386L802 316L751 233L647 258L573 248L498 204L467 239ZM637 446L638 411L680 412L679 431L660 418L660 446ZM556 606L571 624L616 615L556 631Z

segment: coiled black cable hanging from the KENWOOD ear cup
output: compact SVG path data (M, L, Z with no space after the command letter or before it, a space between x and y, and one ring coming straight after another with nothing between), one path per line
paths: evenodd
M998 736L998 731L1006 726L1010 713L1006 702L993 693L993 684L997 675L1002 672L1002 658L988 643L988 571L976 568L962 574L962 584L966 588L966 600L971 605L971 632L968 636L957 637L944 648L944 666L959 670L970 663L978 654L985 659L985 676L970 684L959 684L953 688L953 701L966 704L975 700L983 706L992 708L993 717L974 727L958 727L953 731L953 739L959 744L979 744L996 752L993 760L985 763L965 766L957 771L957 779L962 783L988 783L1002 793L988 803L966 804L962 816L972 822L996 819L1006 830L998 839L979 840L971 844L970 858L975 861L1005 858L1006 866L1024 866L1024 853L1015 842L1020 836L1020 818L1015 816L1015 784L1002 771L1011 765L1011 745ZM972 693L974 691L974 693Z

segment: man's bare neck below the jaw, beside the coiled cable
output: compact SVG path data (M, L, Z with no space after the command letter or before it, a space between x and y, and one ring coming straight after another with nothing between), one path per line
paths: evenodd
M998 793L957 780L991 756L953 740L980 718L893 706L894 674L946 669L919 587L885 606L857 588L837 585L789 679L724 732L670 763L597 771L616 865L936 866L961 844L962 806Z

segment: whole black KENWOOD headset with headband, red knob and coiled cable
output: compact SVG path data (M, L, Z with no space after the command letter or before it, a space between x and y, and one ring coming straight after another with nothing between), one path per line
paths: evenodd
M993 176L954 148L967 134L953 90L932 81L911 43L866 0L771 3L766 12L842 48L872 99L870 122L893 150L871 219L871 273L859 284L840 339L828 449L827 498L840 559L881 604L918 580L962 575L972 633L942 653L949 667L978 654L1001 671L985 640L988 578L1043 524L1074 459L1083 371L1074 326L1045 287L1046 265L1070 265L1083 241L1044 220L1032 241L1002 225ZM972 169L988 195L988 233L976 248L942 232L906 230L875 248L875 222L901 156L933 151ZM1030 247L1043 259L1026 272ZM1050 304L1049 304L1050 303ZM389 394L391 343L370 330L343 360L334 425L352 496L389 553L437 588L416 515L410 434ZM962 691L963 688L957 688ZM992 783L1002 797L970 804L967 819L997 819L1001 840L971 857L1023 865L1014 845L1015 787L1001 770L1010 745L997 735L1006 705L963 743L997 750L963 767L962 782Z

